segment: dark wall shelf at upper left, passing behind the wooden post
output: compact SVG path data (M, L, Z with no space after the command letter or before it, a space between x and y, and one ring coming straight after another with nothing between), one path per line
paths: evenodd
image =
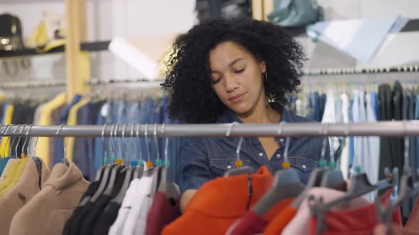
M111 41L99 41L99 42L83 42L80 49L85 52L99 52L103 50L108 50L109 43ZM53 53L64 52L65 46L55 47L48 52L38 53L35 49L26 49L19 51L10 51L10 52L0 52L0 58L8 57L28 57L28 56L38 56L38 55L50 55Z

